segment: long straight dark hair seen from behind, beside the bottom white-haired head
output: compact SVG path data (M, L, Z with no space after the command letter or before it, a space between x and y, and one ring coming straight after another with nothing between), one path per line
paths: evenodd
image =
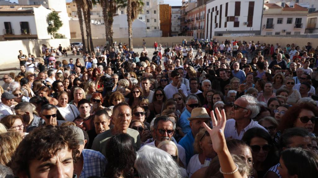
M134 164L136 153L131 138L128 134L118 134L111 137L106 145L106 167L105 176L109 178L134 177Z

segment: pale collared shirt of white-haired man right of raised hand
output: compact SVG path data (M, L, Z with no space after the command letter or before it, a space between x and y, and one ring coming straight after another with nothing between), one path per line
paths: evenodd
M236 130L236 125L235 125L236 121L234 119L229 119L226 121L226 125L225 125L225 129L224 129L224 136L225 138L232 138L232 139L238 139L238 140L242 140L243 135L245 134L245 132L251 128L254 127L259 127L261 129L264 129L266 132L268 132L268 130L266 130L263 126L259 125L258 123L256 123L255 121L253 121L253 119L251 119L250 124L248 124L244 129L242 129L240 131L240 133L238 134L237 130Z

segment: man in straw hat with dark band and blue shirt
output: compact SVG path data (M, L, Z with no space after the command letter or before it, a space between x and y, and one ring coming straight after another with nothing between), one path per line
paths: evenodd
M194 138L197 133L204 128L203 123L210 125L210 116L205 108L194 108L191 111L190 121L191 131L188 132L180 141L179 144L185 149L186 162L189 163L191 157L194 155Z

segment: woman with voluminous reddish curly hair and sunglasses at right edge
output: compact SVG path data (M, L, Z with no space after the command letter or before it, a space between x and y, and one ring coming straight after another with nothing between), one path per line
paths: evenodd
M318 109L309 103L296 104L290 107L281 118L278 130L281 133L285 129L293 127L301 127L307 129L311 133L318 133Z

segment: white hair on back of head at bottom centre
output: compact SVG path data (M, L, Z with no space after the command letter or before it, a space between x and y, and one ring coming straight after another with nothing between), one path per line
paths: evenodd
M180 168L172 157L149 145L137 151L135 168L141 178L182 178Z

